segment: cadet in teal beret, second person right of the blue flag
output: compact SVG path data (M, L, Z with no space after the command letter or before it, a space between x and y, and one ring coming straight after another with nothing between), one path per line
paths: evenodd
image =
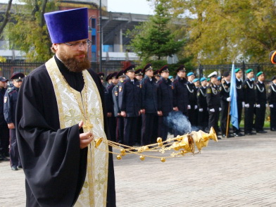
M242 83L244 89L244 134L253 135L253 115L254 115L254 104L256 103L255 98L255 84L252 80L254 73L252 69L246 70L246 80Z

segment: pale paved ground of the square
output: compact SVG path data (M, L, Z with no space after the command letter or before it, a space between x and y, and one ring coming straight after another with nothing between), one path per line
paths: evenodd
M276 132L209 142L201 154L114 160L118 207L276 206ZM0 206L25 206L23 170L0 163Z

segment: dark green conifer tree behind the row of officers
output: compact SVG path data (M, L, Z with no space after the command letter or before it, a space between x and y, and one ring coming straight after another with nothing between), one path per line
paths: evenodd
M162 57L172 56L177 54L184 45L184 40L176 39L170 31L169 25L172 18L165 4L165 1L156 2L156 14L146 23L127 32L127 35L133 38L130 47L144 61L153 57L160 60Z

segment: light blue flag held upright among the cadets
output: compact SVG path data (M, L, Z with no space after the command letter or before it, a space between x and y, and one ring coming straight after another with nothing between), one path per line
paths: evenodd
M237 107L237 88L236 88L236 75L234 73L234 63L232 65L230 97L231 97L231 104L230 104L231 123L234 127L239 129L239 115L238 115L238 107Z

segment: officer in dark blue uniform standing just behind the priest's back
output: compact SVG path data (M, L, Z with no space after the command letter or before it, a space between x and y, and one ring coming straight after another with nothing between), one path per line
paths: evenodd
M22 168L15 134L15 109L18 99L18 92L24 77L25 75L23 73L13 73L13 75L11 76L11 80L13 80L13 87L8 89L4 96L4 118L6 120L6 123L8 123L11 137L11 170L18 170L18 168Z

